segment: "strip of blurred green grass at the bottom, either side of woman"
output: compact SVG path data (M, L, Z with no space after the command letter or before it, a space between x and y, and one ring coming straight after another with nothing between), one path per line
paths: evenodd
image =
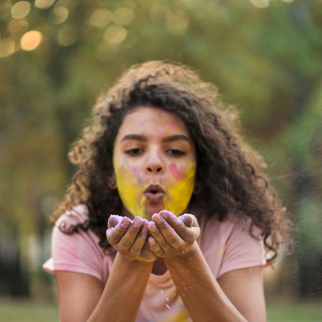
M58 322L55 303L0 299L1 322ZM267 304L267 322L321 322L322 302L275 302Z

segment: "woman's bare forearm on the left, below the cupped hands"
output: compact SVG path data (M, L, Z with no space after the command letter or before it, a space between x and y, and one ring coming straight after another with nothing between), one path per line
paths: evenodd
M153 262L129 261L117 253L102 296L88 322L135 321L152 265Z

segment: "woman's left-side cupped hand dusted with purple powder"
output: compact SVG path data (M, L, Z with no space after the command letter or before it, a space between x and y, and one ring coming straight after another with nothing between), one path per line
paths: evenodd
M111 215L108 221L106 237L110 245L129 260L152 262L156 255L149 249L148 221L135 217L133 221L128 217Z

